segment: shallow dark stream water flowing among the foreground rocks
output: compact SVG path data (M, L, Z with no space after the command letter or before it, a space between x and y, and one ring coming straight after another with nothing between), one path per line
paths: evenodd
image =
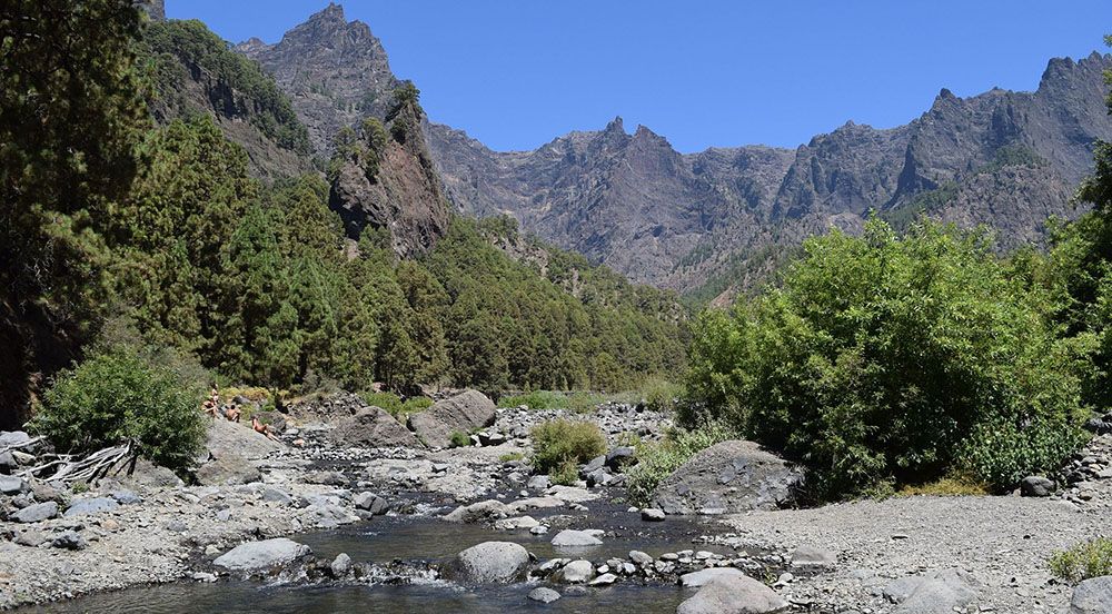
M563 511L562 513L566 513ZM577 518L578 528L602 528L614 536L602 546L578 551L556 551L552 534L534 536L525 531L497 532L478 524L445 523L427 516L385 516L369 523L335 531L295 536L308 544L314 554L328 561L346 552L356 563L387 564L447 561L457 552L487 541L512 541L524 545L540 561L555 556L582 557L596 564L610 557L625 559L631 549L659 556L665 552L705 548L722 553L728 548L693 546L698 535L716 532L704 522L669 518L664 523L643 523L639 517L605 504L594 504L586 517ZM534 517L543 519L544 513ZM129 588L80 597L69 602L24 608L21 612L111 614L209 614L209 613L474 613L509 612L644 612L672 614L676 605L693 594L672 584L643 584L626 580L604 588L554 586L564 597L543 605L526 598L538 584L463 587L444 582L413 584L286 584L256 582L181 582L160 586Z

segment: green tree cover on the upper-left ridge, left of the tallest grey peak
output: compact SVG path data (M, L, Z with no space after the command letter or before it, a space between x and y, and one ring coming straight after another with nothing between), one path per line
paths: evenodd
M180 103L180 92L187 87L186 76L180 70L183 65L195 73L203 71L215 81L215 89L234 92L210 97L217 113L248 118L252 126L285 149L301 155L312 150L309 131L297 119L289 97L258 63L230 49L200 21L148 23L143 42L155 63L156 87L165 102Z

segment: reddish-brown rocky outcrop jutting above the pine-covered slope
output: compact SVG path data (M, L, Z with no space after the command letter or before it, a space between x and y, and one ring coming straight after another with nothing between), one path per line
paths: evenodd
M424 252L448 229L448 200L419 129L421 115L416 102L404 105L378 137L365 133L361 154L338 151L331 170L329 207L348 237L385 228L401 257Z

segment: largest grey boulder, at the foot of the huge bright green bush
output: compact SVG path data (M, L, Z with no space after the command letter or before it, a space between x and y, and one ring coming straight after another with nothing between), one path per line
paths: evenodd
M733 514L791 503L803 473L753 442L713 445L665 478L652 506L666 514Z

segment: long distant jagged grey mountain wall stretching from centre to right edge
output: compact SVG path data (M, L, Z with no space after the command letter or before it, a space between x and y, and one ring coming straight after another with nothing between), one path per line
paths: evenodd
M989 224L1003 248L1043 240L1049 215L1078 215L1069 195L1092 168L1095 140L1112 138L1110 67L1098 53L1051 60L1034 92L942 90L906 126L847 122L794 152L679 156L649 130L631 137L615 123L510 154L444 126L427 135L463 210L513 215L634 279L691 289L770 248L831 227L856 231L871 211L897 224L920 212Z

